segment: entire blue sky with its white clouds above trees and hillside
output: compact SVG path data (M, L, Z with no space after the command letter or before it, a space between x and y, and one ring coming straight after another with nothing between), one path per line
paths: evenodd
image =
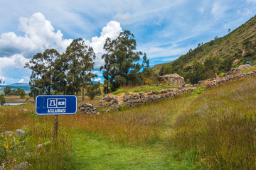
M256 0L78 1L0 0L0 78L5 84L28 82L23 64L37 52L65 52L75 38L85 38L103 61L105 38L130 30L137 50L150 66L171 62L200 42L213 40L255 16Z

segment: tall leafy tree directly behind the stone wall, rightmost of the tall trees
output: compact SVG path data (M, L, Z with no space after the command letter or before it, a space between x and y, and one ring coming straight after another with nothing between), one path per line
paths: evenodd
M143 67L139 60L143 54L136 51L136 46L134 35L129 30L120 33L115 40L106 39L104 49L107 53L102 55L105 65L101 68L105 69L103 76L110 82L112 91L119 86L133 86L143 82L142 74L139 74Z

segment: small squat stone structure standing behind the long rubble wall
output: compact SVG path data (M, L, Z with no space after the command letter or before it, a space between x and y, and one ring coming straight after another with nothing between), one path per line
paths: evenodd
M159 77L159 81L166 81L167 84L172 84L174 86L185 86L184 78L178 74L168 74Z

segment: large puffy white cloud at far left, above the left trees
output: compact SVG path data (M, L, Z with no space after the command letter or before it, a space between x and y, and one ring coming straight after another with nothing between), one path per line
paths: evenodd
M72 42L71 39L63 39L60 30L55 32L50 21L46 20L42 13L34 13L30 18L21 17L19 23L18 28L24 33L23 36L18 36L14 32L1 34L0 57L15 54L31 57L47 48L64 52Z

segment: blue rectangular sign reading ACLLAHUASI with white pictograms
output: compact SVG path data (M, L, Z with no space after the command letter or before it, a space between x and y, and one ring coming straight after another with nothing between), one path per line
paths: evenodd
M72 115L78 111L74 95L40 95L36 97L37 115Z

